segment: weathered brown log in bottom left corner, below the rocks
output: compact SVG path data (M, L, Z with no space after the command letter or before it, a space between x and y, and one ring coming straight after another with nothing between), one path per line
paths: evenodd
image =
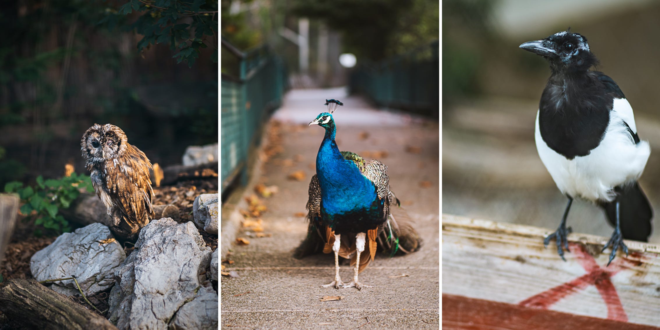
M0 311L30 329L117 330L110 321L74 304L34 279L12 279L0 290Z

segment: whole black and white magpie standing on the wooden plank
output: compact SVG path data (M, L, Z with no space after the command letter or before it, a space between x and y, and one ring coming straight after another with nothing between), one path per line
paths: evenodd
M617 249L628 254L624 238L647 242L651 234L653 210L637 182L651 153L649 143L638 137L632 108L616 82L589 70L599 61L589 50L587 38L569 28L519 48L550 62L535 141L541 161L568 197L562 222L543 243L547 247L554 238L557 253L566 261L566 236L571 232L566 228L568 211L573 199L591 201L614 226L603 248L612 248L609 266Z

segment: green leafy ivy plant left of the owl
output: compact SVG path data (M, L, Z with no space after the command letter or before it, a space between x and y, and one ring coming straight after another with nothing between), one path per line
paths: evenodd
M68 209L81 191L94 192L89 176L75 172L57 180L44 180L42 176L38 176L36 183L34 187L24 187L22 182L8 182L5 184L5 192L17 193L24 203L20 207L20 213L26 215L28 220L36 219L34 224L40 228L34 230L35 235L44 234L42 228L58 235L70 232L69 222L58 214L59 210ZM34 215L32 211L36 211Z

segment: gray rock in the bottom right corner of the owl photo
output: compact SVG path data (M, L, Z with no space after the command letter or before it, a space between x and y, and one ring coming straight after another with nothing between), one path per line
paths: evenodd
M202 287L193 300L179 309L170 322L169 330L218 329L218 294L210 287Z

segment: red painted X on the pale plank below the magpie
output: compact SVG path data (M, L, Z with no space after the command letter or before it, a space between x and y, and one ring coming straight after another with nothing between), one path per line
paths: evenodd
M527 298L520 302L521 306L534 307L547 310L550 306L556 304L559 300L584 290L588 286L595 285L598 292L603 297L605 305L607 306L607 318L616 321L628 321L628 315L623 310L621 300L616 293L616 288L612 284L611 278L619 271L626 269L634 263L634 261L617 258L612 261L609 267L601 268L593 257L587 253L582 244L571 243L571 251L575 255L576 260L587 271L587 274L574 279L573 281L566 282L559 286L555 286L550 290L541 292L535 296ZM640 256L639 253L630 253L632 256ZM628 265L626 265L628 264Z

